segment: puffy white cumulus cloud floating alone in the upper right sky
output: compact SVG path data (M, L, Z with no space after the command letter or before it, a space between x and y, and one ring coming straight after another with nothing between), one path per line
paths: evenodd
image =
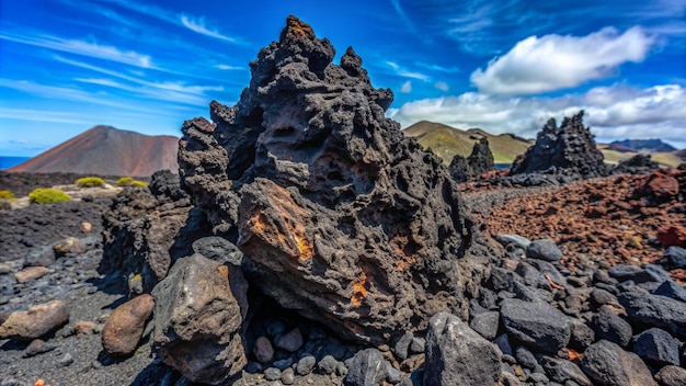
M654 38L641 27L606 27L586 36L529 36L471 73L480 92L526 95L573 88L615 75L619 65L642 61Z

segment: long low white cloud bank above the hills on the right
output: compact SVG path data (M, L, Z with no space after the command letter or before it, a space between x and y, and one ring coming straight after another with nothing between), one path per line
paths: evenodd
M425 99L389 109L388 116L407 127L419 121L454 127L481 127L489 133L535 137L551 117L586 111L585 124L598 139L662 138L686 147L686 88L678 84L647 89L622 84L598 87L583 94L554 98L499 96L468 92Z

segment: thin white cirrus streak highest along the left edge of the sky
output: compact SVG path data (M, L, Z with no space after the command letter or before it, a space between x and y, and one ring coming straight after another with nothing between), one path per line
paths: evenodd
M153 67L152 60L148 55L139 54L134 50L119 49L114 46L102 45L94 42L67 39L47 34L27 35L12 33L0 34L0 39L121 63L141 68Z

